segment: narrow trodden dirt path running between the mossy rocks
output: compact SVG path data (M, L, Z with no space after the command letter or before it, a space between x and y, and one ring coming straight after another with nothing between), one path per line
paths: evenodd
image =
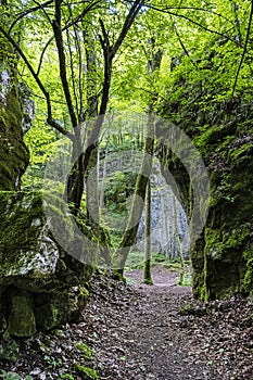
M153 287L141 283L140 270L126 276L135 280L136 300L123 311L114 330L126 356L118 379L207 379L206 360L201 366L194 362L190 353L199 347L192 345L178 319L180 305L191 300L191 289L176 286L177 274L163 268L153 270Z

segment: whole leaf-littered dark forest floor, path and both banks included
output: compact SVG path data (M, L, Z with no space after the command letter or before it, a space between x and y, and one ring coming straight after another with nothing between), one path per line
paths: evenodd
M141 284L139 270L127 277L131 284L97 277L84 321L18 341L23 357L0 368L42 380L88 379L78 364L101 380L253 379L252 300L203 305L162 267L153 270L153 287ZM80 342L93 358L85 358Z

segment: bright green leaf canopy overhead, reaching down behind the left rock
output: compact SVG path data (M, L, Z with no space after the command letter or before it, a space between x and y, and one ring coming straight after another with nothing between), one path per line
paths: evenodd
M151 9L140 12L114 63L111 109L116 112L122 110L146 112L147 105L152 101L157 111L163 106L164 99L180 100L180 105L187 106L192 101L189 93L192 92L193 88L195 104L203 111L206 111L207 100L215 99L222 102L227 99L233 86L249 20L249 10L245 3L240 0L237 5L237 10L235 10L231 1L228 0L219 1L217 4L203 1L195 1L192 4L192 1L184 0L179 7L176 1L172 1L168 12L160 13ZM10 20L7 21L3 16L3 22L13 22L15 15L22 12L25 15L29 7L31 7L29 1L11 2L5 11ZM68 86L77 114L81 107L87 109L87 91L90 88L90 80L98 88L102 87L104 63L98 38L99 20L103 20L111 42L115 41L124 24L127 8L128 4L114 2L112 9L112 4L101 1L91 9L83 22L76 25L80 35L84 30L89 29L90 40L78 39L76 41L72 28L64 31ZM64 10L64 22L68 23L69 20L75 20L80 15L80 12L83 12L80 4L71 2L69 8ZM50 16L47 17L46 14L50 14ZM53 35L52 14L51 4L45 7L43 12L38 9L33 12L33 16L27 15L18 21L13 31L18 30L20 35L22 23L25 23L26 33L21 36L21 46L35 71L41 63L39 77L50 93L53 118L66 130L69 130L69 114L59 76L59 56L54 43L49 43L45 55L40 55L42 47ZM1 38L3 39L3 37ZM153 40L152 49L151 39ZM97 56L94 67L92 67L91 73L88 73L79 67L79 64L86 62L90 51L94 51ZM156 54L159 51L163 52L161 69L155 71L152 75L147 69L151 51L152 54ZM20 60L18 65L22 80L25 80L37 96L38 87L30 77L26 65L22 60ZM252 60L249 49L239 75L237 91L250 87L251 71ZM186 90L185 83L188 84L188 90ZM250 93L248 96L251 97ZM98 92L98 97L100 99L100 92ZM170 116L168 115L168 117ZM172 115L173 117L174 115ZM31 130L26 136L31 160L29 169L24 177L24 188L41 187L45 165L50 160L52 152L59 149L59 145L55 144L59 132L45 125L46 118L45 99L36 97L36 118ZM124 125L124 121L119 119L118 128L121 128L122 122ZM199 126L202 126L201 121ZM211 132L206 131L206 134ZM206 136L207 138L208 136ZM207 143L207 140L200 141L200 144L205 144L205 142ZM130 150L131 138L124 139L121 144L118 141L111 141L111 148L114 151Z

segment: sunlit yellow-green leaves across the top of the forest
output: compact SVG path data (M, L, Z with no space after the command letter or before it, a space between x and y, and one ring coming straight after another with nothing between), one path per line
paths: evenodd
M97 94L101 102L104 56L100 20L112 48L131 4L131 1L123 0L62 1L67 79L76 113L81 114L87 110L89 94ZM184 84L189 88L195 88L198 84L201 94L199 102L229 97L245 43L250 5L250 0L147 1L114 58L110 107L146 111L151 99L155 103L157 98L160 103L168 98L180 98L187 102ZM91 9L81 17L87 7ZM69 116L60 80L58 51L52 39L53 17L52 1L15 0L4 9L0 23L7 29L12 26L11 34L18 40L33 67L36 71L40 67L39 77L50 92L53 117L68 130ZM238 76L237 91L253 87L252 48L251 38ZM160 51L163 54L161 68L151 75L148 62ZM90 53L94 53L96 62L88 73L87 55ZM18 72L21 80L28 84L36 100L35 126L43 128L38 121L46 119L45 99L21 60ZM94 86L90 86L90 83ZM49 134L48 129L46 134ZM52 136L49 136L51 139ZM49 143L51 140L46 139L45 147ZM37 148L33 149L38 151Z

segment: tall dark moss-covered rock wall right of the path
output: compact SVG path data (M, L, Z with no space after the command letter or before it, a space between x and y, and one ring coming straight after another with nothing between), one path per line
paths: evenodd
M175 87L177 84L175 84ZM253 294L253 106L238 99L200 103L197 91L184 89L184 101L163 104L161 114L193 140L208 172L211 197L203 232L191 252L193 294L197 299ZM186 102L185 100L188 99ZM232 103L232 111L231 111ZM229 106L228 106L229 105ZM178 110L176 112L175 110ZM198 117L197 117L198 115ZM162 137L161 137L162 136ZM191 218L193 199L189 176L166 145L166 128L157 130L157 152L179 188L179 199ZM201 186L201 178L200 178ZM197 189L198 190L198 189Z

